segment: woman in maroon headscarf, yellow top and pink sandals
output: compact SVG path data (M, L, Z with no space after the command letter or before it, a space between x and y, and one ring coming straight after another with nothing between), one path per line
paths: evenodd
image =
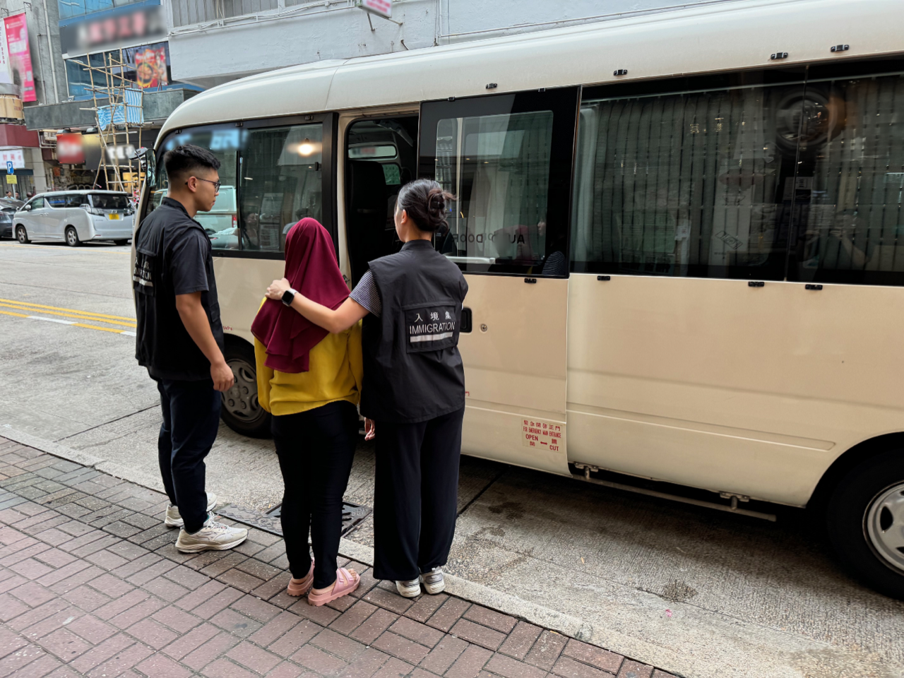
M354 570L336 567L342 498L358 439L361 325L330 334L290 307L300 295L327 308L348 297L333 240L318 221L302 219L288 231L283 279L283 292L263 300L251 325L258 400L273 415L285 485L280 521L292 573L287 593L307 593L308 603L321 606L361 581Z

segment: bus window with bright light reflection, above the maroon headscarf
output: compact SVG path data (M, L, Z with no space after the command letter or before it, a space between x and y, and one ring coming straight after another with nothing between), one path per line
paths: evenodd
M241 149L241 248L279 252L305 217L323 223L323 126L250 129Z

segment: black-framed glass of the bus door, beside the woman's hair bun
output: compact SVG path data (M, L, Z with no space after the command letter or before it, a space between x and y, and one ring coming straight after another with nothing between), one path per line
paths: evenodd
M574 89L425 104L420 173L457 200L438 251L469 271L565 275Z

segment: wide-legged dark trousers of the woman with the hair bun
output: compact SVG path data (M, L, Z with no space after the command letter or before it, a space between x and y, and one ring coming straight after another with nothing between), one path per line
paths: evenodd
M465 409L417 424L376 422L373 576L416 579L446 564Z

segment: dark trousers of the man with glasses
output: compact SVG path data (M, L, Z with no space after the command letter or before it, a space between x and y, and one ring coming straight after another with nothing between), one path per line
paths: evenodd
M170 504L179 507L185 532L198 532L207 520L204 457L220 428L220 391L213 381L157 381L164 423L157 457Z

